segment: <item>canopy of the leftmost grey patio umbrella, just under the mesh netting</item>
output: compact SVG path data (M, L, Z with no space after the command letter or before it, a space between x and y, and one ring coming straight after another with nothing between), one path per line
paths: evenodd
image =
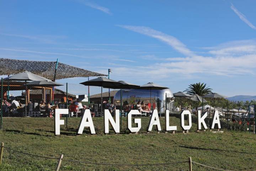
M3 80L16 80L16 81L50 81L42 76L33 74L31 72L25 71L22 73L14 74L9 77L4 78Z

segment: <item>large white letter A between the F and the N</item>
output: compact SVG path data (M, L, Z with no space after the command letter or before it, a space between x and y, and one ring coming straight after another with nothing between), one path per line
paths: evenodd
M95 134L94 124L92 122L90 109L85 109L85 112L82 115L82 119L80 120L80 124L79 124L77 133L82 134L82 132L84 131L84 127L89 127L91 134Z

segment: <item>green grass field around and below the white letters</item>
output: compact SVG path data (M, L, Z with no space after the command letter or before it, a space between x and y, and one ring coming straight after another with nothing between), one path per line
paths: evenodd
M65 119L65 118L64 118ZM142 118L138 135L128 134L123 118L121 133L103 134L103 118L93 118L97 135L84 130L76 136L80 118L69 118L68 129L61 126L61 135L54 136L54 120L50 118L4 118L0 141L6 147L22 152L63 159L111 164L154 164L192 160L228 170L256 169L256 135L224 130L182 134L180 120L170 117L170 125L177 125L177 133L146 133L149 118ZM160 118L164 129L164 118ZM155 129L155 127L153 127ZM112 129L111 129L112 130ZM54 170L57 160L19 154L4 149L0 170ZM161 166L106 166L62 161L61 170L188 170L188 163ZM193 164L193 170L211 170Z

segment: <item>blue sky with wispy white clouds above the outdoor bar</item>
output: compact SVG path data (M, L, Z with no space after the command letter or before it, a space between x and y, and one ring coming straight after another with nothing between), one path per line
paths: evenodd
M256 1L0 0L0 57L183 91L255 95ZM79 83L87 78L59 80Z

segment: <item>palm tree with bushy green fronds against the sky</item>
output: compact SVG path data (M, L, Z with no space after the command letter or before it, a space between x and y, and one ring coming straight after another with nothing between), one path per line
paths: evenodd
M190 84L184 92L187 92L190 95L197 94L199 96L204 96L212 93L212 89L210 89L209 86L206 87L206 84L204 83L201 84L201 82L197 82L195 84Z

